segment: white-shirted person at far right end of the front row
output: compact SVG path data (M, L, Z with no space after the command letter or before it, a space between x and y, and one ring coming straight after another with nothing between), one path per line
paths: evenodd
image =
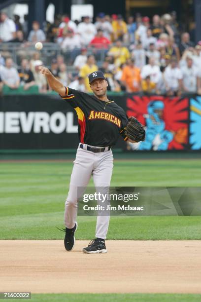
M193 56L188 55L186 58L186 66L181 68L183 77L183 90L184 92L196 93L198 86L198 67L193 65Z

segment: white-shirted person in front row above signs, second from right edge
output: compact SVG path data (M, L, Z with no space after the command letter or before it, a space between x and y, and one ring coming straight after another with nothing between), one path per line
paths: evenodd
M182 72L177 67L176 57L172 57L164 72L166 92L168 95L180 95L182 88Z

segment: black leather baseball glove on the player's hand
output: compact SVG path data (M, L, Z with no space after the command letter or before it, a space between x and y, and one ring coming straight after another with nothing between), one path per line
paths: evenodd
M144 127L134 116L129 117L129 123L126 127L126 135L136 143L145 140Z

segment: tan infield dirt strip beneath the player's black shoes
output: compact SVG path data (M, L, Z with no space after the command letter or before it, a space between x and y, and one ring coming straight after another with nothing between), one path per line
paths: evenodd
M0 240L0 291L201 293L201 241L106 241L107 254L63 240Z

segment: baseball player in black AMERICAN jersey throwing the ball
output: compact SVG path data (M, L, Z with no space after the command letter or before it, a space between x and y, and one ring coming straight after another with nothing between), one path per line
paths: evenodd
M82 189L86 188L91 176L96 188L108 191L113 168L113 155L111 146L114 146L119 135L125 141L134 143L132 135L126 132L129 120L124 110L114 101L107 98L107 80L101 71L91 73L90 87L94 95L89 95L65 87L45 67L40 72L46 76L50 87L74 108L78 117L79 145L74 160L70 178L69 191L65 203L66 229L64 244L67 251L71 251L75 244L74 233L77 229L78 198L82 196ZM143 130L144 131L144 130ZM78 193L79 191L79 193ZM96 225L96 238L88 247L83 248L84 253L106 253L105 239L109 226L109 216L98 216Z

